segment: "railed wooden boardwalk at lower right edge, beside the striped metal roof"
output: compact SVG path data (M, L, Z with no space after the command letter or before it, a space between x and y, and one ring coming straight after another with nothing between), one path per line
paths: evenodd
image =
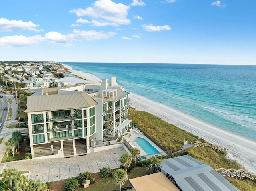
M247 171L243 170L243 169L224 169L224 168L219 168L216 169L216 171L218 173L220 173L220 175L222 176L227 176L227 177L235 177L236 179L241 180L242 178L245 178L244 181L246 180L254 180L256 178L255 175L252 175L251 173L248 173Z

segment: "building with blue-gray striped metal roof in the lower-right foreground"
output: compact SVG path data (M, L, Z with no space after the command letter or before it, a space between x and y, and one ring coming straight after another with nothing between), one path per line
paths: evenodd
M212 167L189 155L165 159L159 170L182 191L239 191Z

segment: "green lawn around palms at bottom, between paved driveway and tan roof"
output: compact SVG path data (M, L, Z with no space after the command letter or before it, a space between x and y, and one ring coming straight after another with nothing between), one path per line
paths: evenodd
M141 177L144 175L148 175L145 167L136 167L128 174L128 180L122 187L132 186L129 179ZM115 185L113 178L102 178L100 181L95 183L94 185L90 185L89 188L81 188L78 191L113 191L119 189L119 185Z

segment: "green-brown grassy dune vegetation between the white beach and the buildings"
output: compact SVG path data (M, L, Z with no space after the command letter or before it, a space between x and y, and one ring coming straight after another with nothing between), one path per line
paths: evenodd
M133 108L130 109L129 118L143 130L146 134L151 136L156 140L161 146L166 148L166 150L172 149L173 151L180 150L184 144L184 139L188 137L188 140L200 140L198 136L194 136L191 133L186 132L168 122L162 120L161 118L154 116L148 112L137 111ZM210 165L214 169L225 168L225 169L243 169L242 165L234 160L227 158L226 152L215 152L208 147L191 147L186 150L173 154L170 157L180 156L189 154L190 156ZM240 181L235 178L227 178L234 186L236 186L241 191L255 191L256 190L256 180L250 181Z

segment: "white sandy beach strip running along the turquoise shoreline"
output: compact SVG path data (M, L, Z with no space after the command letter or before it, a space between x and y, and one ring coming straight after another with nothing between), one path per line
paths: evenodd
M80 76L91 82L99 82L98 77L75 71L71 67L64 65L74 75ZM117 79L118 82L118 79ZM192 134L198 135L205 140L224 146L229 149L228 158L234 159L244 165L244 168L250 173L256 174L256 142L237 136L211 124L203 122L193 116L184 114L163 104L153 102L134 93L130 94L130 103L137 110L146 111L163 120L174 124ZM194 141L194 140L189 140Z

